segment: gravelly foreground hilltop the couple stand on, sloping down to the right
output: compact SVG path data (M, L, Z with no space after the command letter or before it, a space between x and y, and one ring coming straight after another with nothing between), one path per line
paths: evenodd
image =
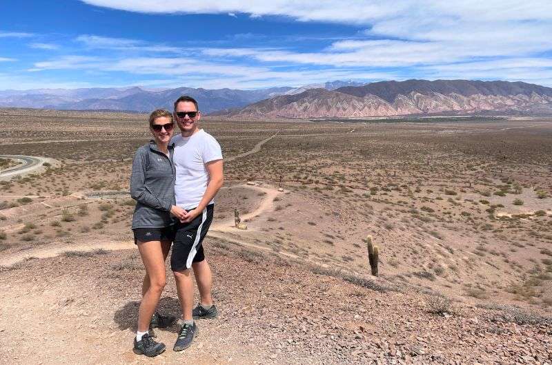
M552 320L389 287L210 239L220 315L172 351L132 353L143 275L137 251L68 252L0 272L0 333L10 364L552 364ZM168 271L170 273L170 271ZM160 303L178 313L174 280ZM439 313L431 313L439 312ZM40 348L40 351L37 351Z

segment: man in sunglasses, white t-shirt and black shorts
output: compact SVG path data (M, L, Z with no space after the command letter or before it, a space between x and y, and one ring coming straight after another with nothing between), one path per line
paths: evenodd
M198 122L201 113L197 101L181 96L175 101L175 119L181 134L175 143L173 161L176 168L176 205L185 211L177 216L175 241L172 244L170 267L175 274L178 298L182 309L181 329L174 350L192 344L197 335L194 319L215 318L217 308L211 298L211 270L205 260L204 237L213 220L215 195L223 182L222 153L217 140ZM193 309L193 269L200 302Z

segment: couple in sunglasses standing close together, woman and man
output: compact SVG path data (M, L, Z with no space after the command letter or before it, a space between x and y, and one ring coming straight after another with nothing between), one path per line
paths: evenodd
M146 267L134 351L150 357L165 351L165 345L153 339L149 328L170 326L176 320L155 311L166 284L165 260L171 244L170 267L182 310L174 350L192 344L198 331L194 319L217 317L201 242L213 220L213 198L223 181L221 148L197 126L201 113L194 98L179 97L174 118L181 134L173 138L173 115L167 110L150 114L154 139L137 150L130 177L130 195L137 200L132 231ZM201 297L194 309L190 269Z

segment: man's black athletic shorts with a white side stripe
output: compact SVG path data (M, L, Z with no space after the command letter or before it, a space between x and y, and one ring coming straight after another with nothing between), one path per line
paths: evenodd
M172 253L170 254L172 271L190 269L192 262L205 260L201 242L213 222L213 207L214 204L208 205L189 223L176 223L175 242L172 244Z

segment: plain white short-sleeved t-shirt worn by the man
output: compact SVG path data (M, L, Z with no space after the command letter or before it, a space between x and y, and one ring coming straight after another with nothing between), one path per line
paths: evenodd
M189 137L180 134L172 137L175 143L175 154L172 160L177 169L175 198L177 206L193 209L199 205L209 183L206 163L222 159L220 145L203 129ZM213 203L211 200L209 204Z

